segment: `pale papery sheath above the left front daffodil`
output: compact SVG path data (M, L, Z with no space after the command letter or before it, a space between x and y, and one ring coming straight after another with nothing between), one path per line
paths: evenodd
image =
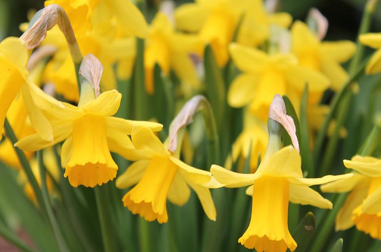
M100 95L100 82L103 72L101 62L92 54L87 54L79 67L81 93L78 107L95 100Z

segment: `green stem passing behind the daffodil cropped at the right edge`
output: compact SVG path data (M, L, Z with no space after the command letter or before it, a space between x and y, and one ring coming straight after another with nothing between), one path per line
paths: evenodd
M370 132L368 137L365 140L364 146L362 148L362 151L359 153L361 156L370 155L373 151L373 148L375 146L375 141L377 140L377 137L381 134L381 127L379 123L376 123L373 127L373 130ZM351 170L346 169L346 173L349 173ZM339 213L339 210L341 209L342 205L344 204L345 200L347 198L347 193L341 193L336 194L334 198L332 199L334 207L332 208L332 211L324 214L324 218L321 218L322 226L318 227L317 235L314 239L314 243L310 249L310 252L320 252L323 248L326 239L328 238L330 232L332 231L332 228L334 228L335 224L335 218L337 214Z

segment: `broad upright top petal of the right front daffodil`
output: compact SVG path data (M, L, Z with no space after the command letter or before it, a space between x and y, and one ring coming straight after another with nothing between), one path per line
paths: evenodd
M259 165L256 174L270 177L302 178L302 161L298 151L291 145L275 152L267 162Z

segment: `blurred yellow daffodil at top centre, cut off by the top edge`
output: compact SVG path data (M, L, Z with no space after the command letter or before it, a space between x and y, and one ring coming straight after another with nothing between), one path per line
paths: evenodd
M210 44L217 64L224 66L228 45L244 13L246 0L199 0L175 10L176 26L186 32L198 32L205 44Z

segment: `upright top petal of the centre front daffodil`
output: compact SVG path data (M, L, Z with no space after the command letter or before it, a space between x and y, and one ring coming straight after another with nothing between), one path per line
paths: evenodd
M166 155L165 149L159 138L145 127L134 127L131 134L132 143L136 149Z

